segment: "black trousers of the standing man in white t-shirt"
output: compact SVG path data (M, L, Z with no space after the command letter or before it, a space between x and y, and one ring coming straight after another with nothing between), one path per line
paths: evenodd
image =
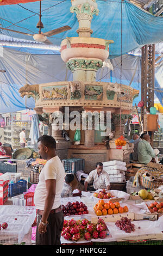
M36 229L36 245L60 245L61 231L64 225L63 212L57 214L49 214L47 231L45 234L39 234L38 226L42 215L37 215L37 229Z

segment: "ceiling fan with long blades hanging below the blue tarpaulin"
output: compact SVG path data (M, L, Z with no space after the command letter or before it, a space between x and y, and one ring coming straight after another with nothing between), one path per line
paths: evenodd
M29 34L29 33L24 33L24 32L20 32L20 31L14 31L12 29L2 28L2 27L0 27L0 29L16 32L16 33L23 34L23 35L33 36L35 41L43 42L44 44L48 44L48 45L53 45L53 43L51 41L49 41L47 39L47 37L50 37L52 35L59 34L61 32L65 32L65 31L68 31L69 29L71 29L71 27L69 27L69 26L64 26L64 27L53 29L52 31L48 31L48 32L42 33L41 32L41 28L43 28L43 23L41 21L41 16L42 16L41 15L41 1L40 1L40 15L39 16L40 16L40 19L39 19L39 22L36 25L36 28L39 28L39 33L38 34Z

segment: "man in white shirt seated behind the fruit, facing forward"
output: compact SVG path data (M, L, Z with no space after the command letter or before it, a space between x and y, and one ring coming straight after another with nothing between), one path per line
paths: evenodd
M103 169L103 163L97 162L96 169L89 173L84 181L84 191L87 191L87 185L93 181L94 190L105 188L110 190L109 174Z

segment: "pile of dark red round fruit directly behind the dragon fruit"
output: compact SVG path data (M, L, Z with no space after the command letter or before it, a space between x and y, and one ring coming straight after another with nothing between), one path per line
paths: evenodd
M70 215L82 215L88 214L89 211L87 210L87 206L83 202L68 202L66 205L61 205L61 209L64 213L64 216Z

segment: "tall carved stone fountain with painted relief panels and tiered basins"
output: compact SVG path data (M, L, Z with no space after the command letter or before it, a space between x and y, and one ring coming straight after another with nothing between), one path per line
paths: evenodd
M91 37L91 21L94 15L99 14L95 0L72 0L71 3L70 11L76 13L79 22L79 36L62 40L60 54L67 68L72 71L73 81L26 84L20 89L20 93L22 97L34 97L37 114L46 113L47 119L50 120L49 135L57 141L60 158L83 158L85 171L90 172L98 161L129 162L133 144L127 142L122 149L116 149L115 139L124 135L124 124L131 114L133 99L139 91L124 84L96 82L96 71L102 68L103 62L109 56L110 44L114 41ZM68 129L72 143L66 142L62 137L62 131L54 122L54 113L57 111L63 113L67 120L63 121L62 129L65 129L66 122L70 122L69 114L72 111L78 111L80 114L110 112L115 138L110 141L109 149L105 147L95 125L92 129L86 130L80 126L81 138L78 145L73 143L75 130ZM103 122L105 123L105 118Z

